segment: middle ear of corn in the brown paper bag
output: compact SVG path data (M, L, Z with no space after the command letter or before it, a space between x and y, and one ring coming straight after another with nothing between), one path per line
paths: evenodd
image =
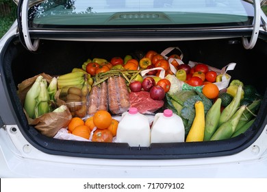
M47 87L45 85L45 82L42 81L40 82L40 93L37 97L37 104L34 110L36 118L50 111L49 99L50 98Z

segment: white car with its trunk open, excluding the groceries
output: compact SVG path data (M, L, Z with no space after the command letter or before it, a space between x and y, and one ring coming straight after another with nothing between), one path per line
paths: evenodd
M259 0L68 0L18 2L18 21L0 40L1 178L266 178L266 15ZM88 58L168 47L187 64L222 69L262 95L257 117L231 139L97 143L45 136L29 125L18 84L61 75ZM137 57L137 56L136 56Z

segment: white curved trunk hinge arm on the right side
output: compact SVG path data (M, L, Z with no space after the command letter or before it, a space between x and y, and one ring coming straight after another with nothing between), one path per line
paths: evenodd
M252 49L256 42L257 37L259 36L259 27L261 22L261 5L260 0L253 0L254 3L254 21L253 21L253 32L251 35L251 40L249 41L247 37L242 38L243 46L245 49Z

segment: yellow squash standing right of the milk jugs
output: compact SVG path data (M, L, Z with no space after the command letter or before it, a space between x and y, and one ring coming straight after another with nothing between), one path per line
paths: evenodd
M196 116L186 137L186 142L203 141L204 139L205 112L203 102L196 101L194 107L196 109Z

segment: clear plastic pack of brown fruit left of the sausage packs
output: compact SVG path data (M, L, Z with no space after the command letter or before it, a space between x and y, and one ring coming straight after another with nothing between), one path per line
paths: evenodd
M86 116L87 95L88 88L86 85L82 88L79 88L77 86L71 86L68 88L66 95L66 105L71 111L71 115L73 117Z

